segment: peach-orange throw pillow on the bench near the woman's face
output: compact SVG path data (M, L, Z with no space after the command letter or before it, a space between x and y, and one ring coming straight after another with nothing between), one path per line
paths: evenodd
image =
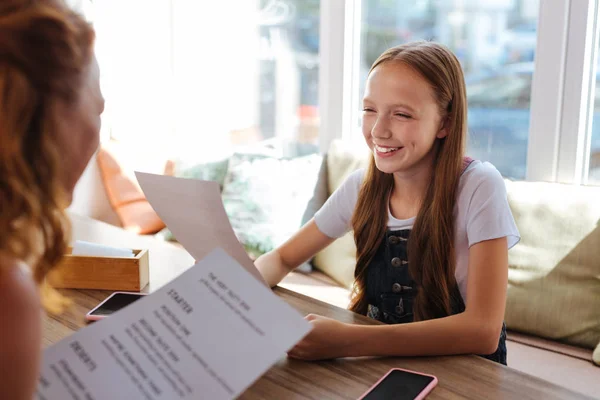
M104 144L98 151L98 168L108 200L123 228L139 234L158 232L165 224L146 200L133 169L126 167L127 161L127 150L116 142ZM163 163L161 172L170 167L170 163Z

